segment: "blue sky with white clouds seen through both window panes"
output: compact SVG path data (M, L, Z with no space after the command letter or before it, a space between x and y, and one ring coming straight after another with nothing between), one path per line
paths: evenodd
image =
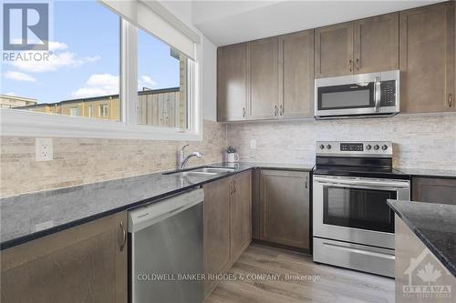
M4 95L38 103L119 93L119 16L96 1L54 1L50 6L48 61L2 61ZM139 30L138 87L179 86L179 60L170 46Z

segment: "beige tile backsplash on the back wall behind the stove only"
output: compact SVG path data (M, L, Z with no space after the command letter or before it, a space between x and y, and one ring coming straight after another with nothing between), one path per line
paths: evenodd
M256 140L256 148L250 141ZM277 121L228 126L241 161L315 163L318 140L393 142L394 167L456 168L456 114L389 118Z

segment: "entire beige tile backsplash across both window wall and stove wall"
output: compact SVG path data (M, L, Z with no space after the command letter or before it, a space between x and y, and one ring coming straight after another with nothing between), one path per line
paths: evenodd
M250 141L256 140L252 149ZM203 123L203 140L188 142L203 159L220 162L237 147L241 161L313 164L317 140L389 140L395 167L456 169L456 114L354 120L314 119ZM36 162L35 137L2 136L0 197L130 177L176 167L183 141L54 138L54 160Z

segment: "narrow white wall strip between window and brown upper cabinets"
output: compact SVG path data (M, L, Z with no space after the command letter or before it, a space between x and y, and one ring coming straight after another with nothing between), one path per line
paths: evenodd
M192 1L160 1L181 22L192 28L202 37L202 43L197 46L197 56L200 64L200 96L202 100L202 118L215 121L217 118L217 47L211 40L202 35L201 31L192 24Z

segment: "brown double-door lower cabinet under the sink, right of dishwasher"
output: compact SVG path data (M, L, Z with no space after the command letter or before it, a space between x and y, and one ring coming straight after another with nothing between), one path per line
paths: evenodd
M204 273L231 268L252 241L252 180L250 171L208 183L204 189ZM206 279L204 295L217 285Z

